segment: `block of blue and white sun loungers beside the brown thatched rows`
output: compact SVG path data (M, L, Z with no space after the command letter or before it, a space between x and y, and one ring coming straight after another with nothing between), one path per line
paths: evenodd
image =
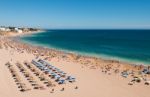
M60 69L50 65L44 60L32 60L32 64L38 67L45 74L48 74L50 78L54 79L58 84L64 84L66 81L75 82L75 78L67 76L67 73L61 71Z

